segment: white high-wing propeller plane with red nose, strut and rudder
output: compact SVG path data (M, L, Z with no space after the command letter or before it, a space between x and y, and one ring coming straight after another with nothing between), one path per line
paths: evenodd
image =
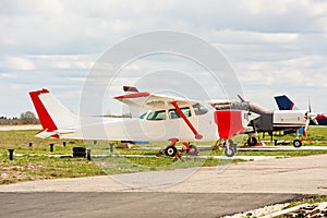
M246 110L219 110L197 101L165 95L140 93L136 88L117 100L146 109L140 118L78 117L69 111L49 90L31 92L29 96L43 125L37 137L107 141L170 142L165 154L174 157L177 142L187 152L196 149L187 142L222 140L225 154L234 156L237 145L231 137L242 133L259 116ZM209 106L209 105L208 105ZM193 150L194 152L194 150Z

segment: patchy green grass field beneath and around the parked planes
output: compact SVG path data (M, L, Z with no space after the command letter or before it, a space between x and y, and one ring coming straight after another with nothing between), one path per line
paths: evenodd
M86 158L61 158L61 155L72 155L72 148L84 146L92 148L93 155L112 155L108 142L72 141L72 140L41 140L34 137L37 131L0 131L0 184L14 183L28 180L56 179L56 178L77 178L113 173L129 173L136 171L149 170L170 170L177 168L190 168L201 166L226 165L231 161L242 161L238 158L233 160L217 160L211 157L207 159L187 158L174 161L170 157L143 157L143 158L121 158L121 157L93 157L92 160ZM327 129L313 126L310 129L311 142L304 145L327 145ZM293 136L276 136L277 140L293 140ZM235 141L242 144L246 137L238 137ZM268 136L267 136L268 140ZM63 142L66 145L63 146ZM29 143L33 143L29 146ZM55 150L50 153L49 144L55 144ZM207 143L211 145L213 143ZM270 145L269 143L267 143ZM114 144L114 154L142 154L156 155L158 150L126 150L117 148ZM274 143L271 143L274 145ZM147 146L165 147L167 143L153 143ZM14 159L9 160L8 149L14 149ZM203 152L201 155L221 156L222 150ZM238 155L264 155L264 156L306 156L327 154L325 150L313 152L240 152Z

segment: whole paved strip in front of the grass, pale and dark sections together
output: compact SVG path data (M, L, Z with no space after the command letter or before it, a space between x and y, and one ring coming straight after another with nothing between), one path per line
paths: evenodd
M0 185L0 217L221 217L327 194L327 155Z

